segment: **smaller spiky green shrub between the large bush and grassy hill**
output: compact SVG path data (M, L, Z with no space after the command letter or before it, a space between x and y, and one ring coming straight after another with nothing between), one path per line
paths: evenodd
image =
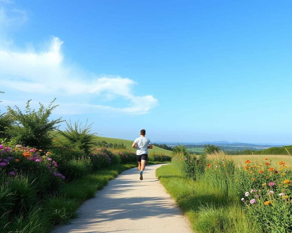
M90 153L90 148L95 145L94 139L97 133L89 133L92 123L87 126L87 121L84 127L81 127L82 123L78 125L78 121L74 123L74 126L70 123L67 123L67 128L63 132L58 130L58 133L64 137L61 139L61 144L67 147L71 147L75 150L83 150L86 154Z

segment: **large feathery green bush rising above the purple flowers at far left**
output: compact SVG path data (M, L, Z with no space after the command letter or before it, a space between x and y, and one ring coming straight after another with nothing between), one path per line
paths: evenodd
M30 101L26 102L25 113L15 106L16 110L7 107L7 117L11 119L12 124L7 125L6 132L15 140L17 144L47 149L52 144L52 137L49 131L56 130L61 118L57 120L49 120L49 116L57 105L52 106L54 99L47 108L40 104L38 111L30 109Z

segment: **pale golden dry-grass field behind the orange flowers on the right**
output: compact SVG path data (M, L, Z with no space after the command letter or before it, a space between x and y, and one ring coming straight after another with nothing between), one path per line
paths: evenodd
M271 163L271 166L276 167L278 164L278 161L283 161L288 166L292 166L292 156L290 155L228 155L228 158L232 158L236 165L239 165L241 167L245 166L246 160L255 161L258 160L258 162L269 162ZM208 158L212 158L212 155L208 155ZM264 158L268 158L268 160L264 160ZM269 160L272 160L271 162Z

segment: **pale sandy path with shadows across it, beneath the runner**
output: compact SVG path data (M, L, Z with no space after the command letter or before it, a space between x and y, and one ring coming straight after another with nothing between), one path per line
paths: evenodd
M82 204L78 218L52 233L191 233L188 220L155 176L160 166L146 166L143 181L137 168L123 171Z

